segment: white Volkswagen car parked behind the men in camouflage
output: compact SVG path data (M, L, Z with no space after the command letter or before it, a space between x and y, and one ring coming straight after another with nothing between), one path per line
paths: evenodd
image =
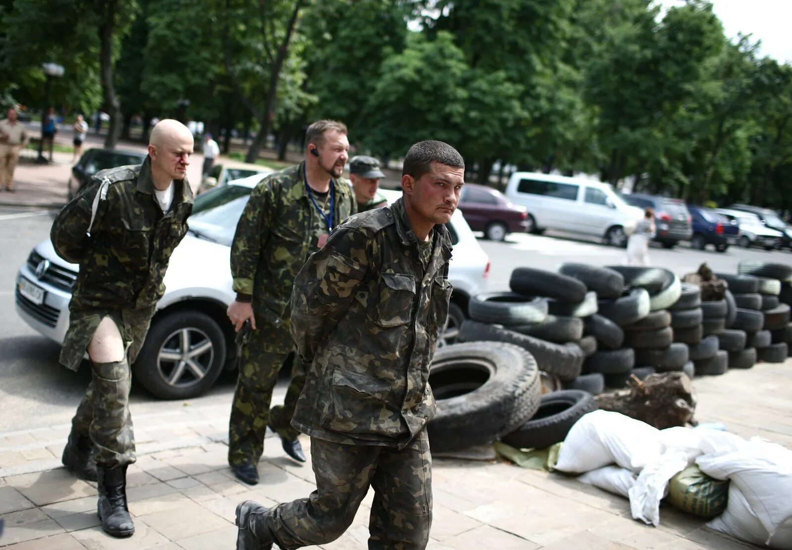
M166 293L135 362L135 377L155 396L185 399L204 393L223 369L236 368L234 330L226 316L234 301L230 245L256 174L196 197L190 230L173 251ZM390 201L401 194L385 192ZM470 296L484 292L489 259L462 212L448 224L454 242L449 279L454 285L441 342L455 338ZM30 252L17 273L17 313L44 336L63 342L69 324L71 286L78 266L60 258L49 239Z

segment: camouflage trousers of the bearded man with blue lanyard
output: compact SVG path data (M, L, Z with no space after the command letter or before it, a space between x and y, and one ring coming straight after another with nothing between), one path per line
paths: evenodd
M228 426L228 463L231 466L258 462L264 453L267 426L290 440L296 439L299 433L291 427L291 415L303 392L305 368L295 355L284 405L270 410L272 389L291 353L292 343L288 328L284 331L267 325L266 331L264 334L260 328L252 332L242 346Z

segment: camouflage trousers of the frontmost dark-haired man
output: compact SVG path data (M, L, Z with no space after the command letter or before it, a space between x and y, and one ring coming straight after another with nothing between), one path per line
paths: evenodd
M280 548L328 544L341 537L369 486L374 501L368 548L426 548L432 527L432 455L425 430L402 450L310 438L310 456L316 491L268 514L268 528Z

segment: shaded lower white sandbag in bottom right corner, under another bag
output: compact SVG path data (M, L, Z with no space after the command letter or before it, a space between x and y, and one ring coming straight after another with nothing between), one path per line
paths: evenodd
M729 484L729 504L726 511L706 526L760 546L767 544L770 548L779 550L792 548L792 522L780 525L771 537L736 484Z

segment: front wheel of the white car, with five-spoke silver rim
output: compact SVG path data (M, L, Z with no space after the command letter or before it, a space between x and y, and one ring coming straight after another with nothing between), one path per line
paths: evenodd
M223 330L206 313L177 311L156 319L135 361L135 377L163 399L199 396L226 362Z

